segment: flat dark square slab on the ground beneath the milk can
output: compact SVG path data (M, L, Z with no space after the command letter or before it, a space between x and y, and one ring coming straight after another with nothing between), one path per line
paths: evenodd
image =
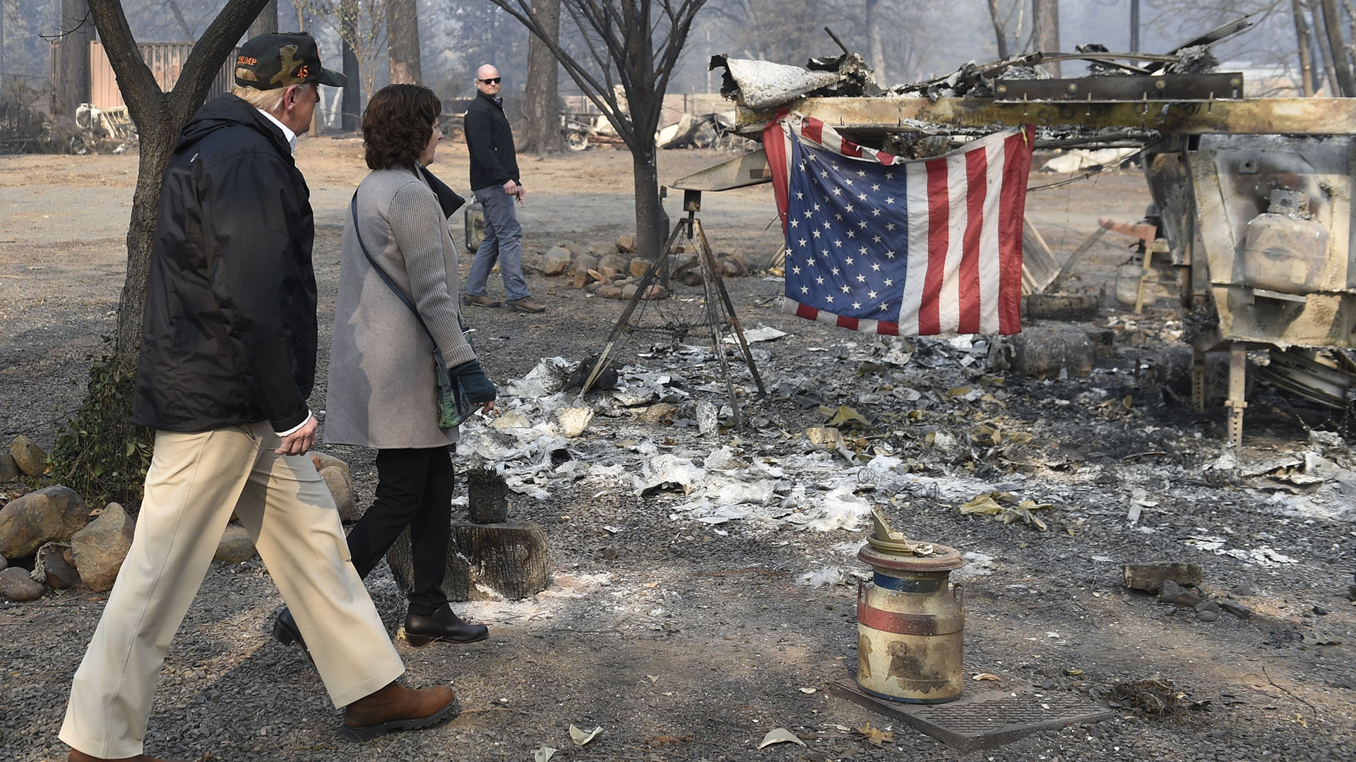
M1031 686L975 693L967 690L960 698L946 704L903 704L876 698L862 693L853 679L835 681L834 691L957 751L993 748L1037 731L1055 731L1075 723L1096 723L1115 715L1082 696L1069 693L1037 696Z

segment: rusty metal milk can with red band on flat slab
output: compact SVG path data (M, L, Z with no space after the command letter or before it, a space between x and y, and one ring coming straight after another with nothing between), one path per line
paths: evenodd
M876 572L857 584L857 685L891 701L955 701L965 687L965 613L963 588L948 578L965 559L910 541L873 514L876 532L857 553Z

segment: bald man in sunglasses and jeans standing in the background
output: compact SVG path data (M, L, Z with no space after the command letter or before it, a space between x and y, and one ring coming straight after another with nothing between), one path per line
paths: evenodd
M485 64L476 71L476 99L466 107L462 132L471 153L471 193L485 210L485 240L476 249L466 277L466 302L499 306L490 298L490 270L499 260L509 306L518 312L542 312L522 277L522 226L513 202L523 203L527 188L518 180L513 130L499 99L499 69Z

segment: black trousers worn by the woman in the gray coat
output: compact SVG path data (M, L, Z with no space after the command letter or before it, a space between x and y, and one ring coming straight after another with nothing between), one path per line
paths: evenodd
M377 498L348 533L353 565L366 578L410 527L414 560L410 613L422 617L433 616L447 602L442 578L452 538L454 450L454 445L377 450Z

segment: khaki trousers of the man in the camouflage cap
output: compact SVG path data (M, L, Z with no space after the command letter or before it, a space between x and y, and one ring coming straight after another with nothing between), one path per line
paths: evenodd
M348 560L339 511L309 456L277 456L267 422L156 433L132 550L76 670L61 740L100 758L142 753L170 639L235 511L311 647L335 706L404 664Z

